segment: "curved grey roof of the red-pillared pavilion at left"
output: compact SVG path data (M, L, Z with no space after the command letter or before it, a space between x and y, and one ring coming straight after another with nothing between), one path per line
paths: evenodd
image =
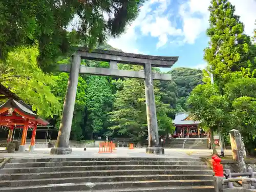
M48 125L49 122L40 118L38 115L33 113L23 104L19 103L14 99L9 99L6 103L0 106L0 114L6 113L10 108L12 108L17 114L22 115L28 119L37 121L41 125Z

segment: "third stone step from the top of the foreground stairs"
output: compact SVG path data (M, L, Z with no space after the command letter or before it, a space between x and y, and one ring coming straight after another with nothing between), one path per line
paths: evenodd
M25 168L3 168L0 174L12 173L41 173L41 172L64 172L81 170L134 170L134 169L210 169L206 165L89 165L89 166L55 166L55 167L25 167Z

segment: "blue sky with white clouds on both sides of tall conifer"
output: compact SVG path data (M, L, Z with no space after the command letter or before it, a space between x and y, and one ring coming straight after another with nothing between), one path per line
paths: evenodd
M253 34L256 0L230 0L245 24L245 33ZM203 69L203 49L207 46L210 0L148 0L139 16L119 38L108 43L124 52L159 56L179 56L172 67ZM169 69L164 69L168 71Z

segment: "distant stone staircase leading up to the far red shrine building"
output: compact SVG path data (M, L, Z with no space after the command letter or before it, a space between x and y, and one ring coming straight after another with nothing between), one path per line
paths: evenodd
M183 148L183 143L186 138L168 139L165 141L165 148ZM187 138L184 148L189 149L208 149L207 138Z

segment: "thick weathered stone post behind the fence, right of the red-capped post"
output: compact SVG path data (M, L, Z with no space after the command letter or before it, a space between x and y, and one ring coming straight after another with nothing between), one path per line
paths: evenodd
M238 173L246 172L246 165L244 162L245 149L242 145L241 134L238 130L231 130L229 132L229 136L230 136L233 160L234 160L234 164L238 168Z

